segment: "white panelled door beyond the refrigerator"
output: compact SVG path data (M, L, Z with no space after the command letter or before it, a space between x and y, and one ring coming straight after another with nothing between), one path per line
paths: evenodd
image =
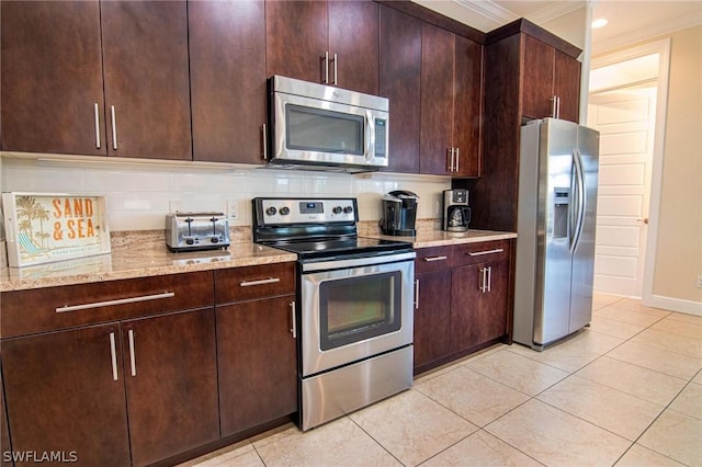
M595 291L642 296L656 116L656 83L590 94L600 132Z

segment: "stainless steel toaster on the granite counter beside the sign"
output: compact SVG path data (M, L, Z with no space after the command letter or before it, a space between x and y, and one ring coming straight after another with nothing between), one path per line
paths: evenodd
M229 219L224 213L166 215L166 246L170 251L218 250L229 242Z

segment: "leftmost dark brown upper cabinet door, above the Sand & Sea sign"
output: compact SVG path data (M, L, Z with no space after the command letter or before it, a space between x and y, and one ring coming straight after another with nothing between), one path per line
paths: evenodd
M100 4L0 8L2 150L104 156Z

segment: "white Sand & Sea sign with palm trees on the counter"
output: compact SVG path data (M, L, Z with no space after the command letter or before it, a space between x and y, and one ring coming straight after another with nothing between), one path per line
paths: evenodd
M110 252L104 196L2 193L10 266Z

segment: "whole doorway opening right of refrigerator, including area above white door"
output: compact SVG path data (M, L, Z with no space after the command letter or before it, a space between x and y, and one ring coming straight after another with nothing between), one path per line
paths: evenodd
M588 126L600 132L595 291L653 293L667 41L592 60Z

